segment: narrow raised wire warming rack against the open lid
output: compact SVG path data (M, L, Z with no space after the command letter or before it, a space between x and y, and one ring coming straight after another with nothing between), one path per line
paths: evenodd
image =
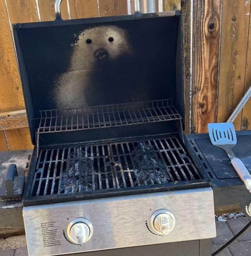
M42 110L38 133L178 120L172 99L63 110Z

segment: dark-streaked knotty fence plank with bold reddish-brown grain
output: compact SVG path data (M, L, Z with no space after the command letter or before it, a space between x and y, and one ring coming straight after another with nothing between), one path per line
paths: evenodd
M216 121L221 0L194 0L191 132Z

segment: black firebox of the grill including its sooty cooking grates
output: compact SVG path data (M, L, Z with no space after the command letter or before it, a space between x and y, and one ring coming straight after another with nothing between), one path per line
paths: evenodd
M34 150L23 205L209 186L178 134L118 138Z

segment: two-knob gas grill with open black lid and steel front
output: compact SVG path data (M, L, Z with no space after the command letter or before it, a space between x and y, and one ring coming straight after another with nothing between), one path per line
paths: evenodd
M183 135L181 11L14 24L14 36L35 145L29 256L209 253L213 190Z

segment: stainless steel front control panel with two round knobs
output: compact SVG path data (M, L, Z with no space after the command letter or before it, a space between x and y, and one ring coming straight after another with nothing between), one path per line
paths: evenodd
M23 208L29 256L216 236L211 188Z

